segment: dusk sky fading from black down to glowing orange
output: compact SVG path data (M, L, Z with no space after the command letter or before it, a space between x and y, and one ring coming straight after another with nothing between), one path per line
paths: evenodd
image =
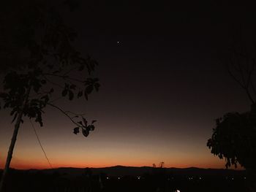
M52 109L45 110L44 127L35 124L53 167L160 161L167 167L225 167L207 139L216 118L248 110L249 100L217 55L250 12L215 1L203 6L82 4L72 16L64 13L78 31L76 46L99 62L102 86L89 101L59 101L65 110L97 120L89 137L72 134L72 123ZM3 167L14 125L8 112L0 115ZM28 122L20 128L11 166L49 168Z

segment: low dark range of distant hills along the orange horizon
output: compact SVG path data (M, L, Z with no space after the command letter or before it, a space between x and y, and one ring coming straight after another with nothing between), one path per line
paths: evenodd
M104 168L90 168L92 174L105 173L109 176L138 176L142 174L152 174L157 172L165 172L166 174L173 175L190 175L190 176L231 176L231 175L242 175L245 174L243 170L234 169L200 169L196 167L190 168L152 168L150 166L110 166ZM72 168L72 167L61 167L57 169L29 169L29 172L44 172L52 174L58 172L59 174L67 174L69 176L78 176L84 173L83 168Z

